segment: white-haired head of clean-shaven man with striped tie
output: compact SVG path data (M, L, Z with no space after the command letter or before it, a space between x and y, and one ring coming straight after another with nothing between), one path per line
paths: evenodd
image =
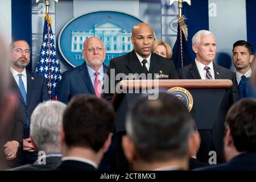
M196 53L196 60L209 65L216 56L216 39L212 32L200 30L192 38L192 49Z

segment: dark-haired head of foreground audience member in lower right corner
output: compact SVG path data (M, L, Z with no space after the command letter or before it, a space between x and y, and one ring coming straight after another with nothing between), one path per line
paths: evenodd
M242 152L256 152L256 100L243 98L230 107L225 120L227 161Z

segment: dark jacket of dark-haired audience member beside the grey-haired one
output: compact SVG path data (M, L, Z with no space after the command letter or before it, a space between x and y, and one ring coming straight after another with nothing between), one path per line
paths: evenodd
M57 171L97 171L95 167L88 163L77 160L64 160L60 163Z

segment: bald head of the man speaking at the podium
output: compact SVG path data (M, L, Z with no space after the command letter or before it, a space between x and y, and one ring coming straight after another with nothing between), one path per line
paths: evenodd
M131 34L134 51L146 59L150 56L155 40L153 28L147 23L138 23L132 28Z

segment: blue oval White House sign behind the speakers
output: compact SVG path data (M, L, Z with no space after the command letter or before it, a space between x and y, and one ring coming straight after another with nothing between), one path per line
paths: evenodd
M59 35L59 49L64 59L77 67L84 63L82 49L84 40L97 36L106 48L105 65L113 57L133 50L131 28L142 22L134 16L116 11L97 11L81 15L68 22Z

